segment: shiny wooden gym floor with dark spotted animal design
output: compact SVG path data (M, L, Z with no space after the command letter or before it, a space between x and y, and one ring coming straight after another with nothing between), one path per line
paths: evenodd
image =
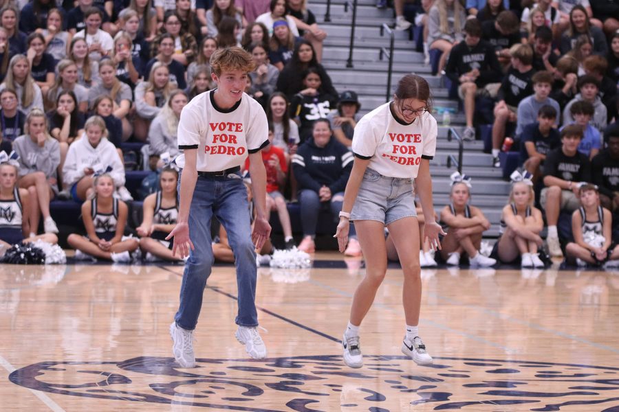
M365 365L339 339L360 262L261 268L269 357L234 337L232 266L215 268L195 369L168 334L182 266L0 266L0 411L619 411L619 274L424 270L420 330L434 356L402 356L391 268L362 325Z

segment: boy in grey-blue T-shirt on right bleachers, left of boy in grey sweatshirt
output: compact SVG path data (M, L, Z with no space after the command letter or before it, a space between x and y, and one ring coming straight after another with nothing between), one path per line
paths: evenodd
M556 113L561 111L556 100L549 98L550 91L552 90L552 83L554 82L554 76L550 71L538 71L531 78L533 82L534 93L528 98L524 98L518 104L517 110L517 122L516 122L516 137L519 139L522 135L523 128L537 119L537 113L541 106L550 104L554 107ZM555 126L558 122L555 122Z

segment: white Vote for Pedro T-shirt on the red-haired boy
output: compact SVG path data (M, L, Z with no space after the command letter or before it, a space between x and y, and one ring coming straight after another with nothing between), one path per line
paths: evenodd
M178 148L197 149L196 169L219 172L241 166L250 153L269 144L269 128L262 106L243 93L229 109L217 107L215 90L197 95L183 108L178 123ZM176 158L184 168L185 156Z

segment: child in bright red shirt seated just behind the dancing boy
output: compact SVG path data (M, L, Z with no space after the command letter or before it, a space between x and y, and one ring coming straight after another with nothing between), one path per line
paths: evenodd
M273 146L274 133L269 127L270 144L261 150L262 161L266 170L266 206L268 211L277 211L283 230L285 248L290 250L296 245L292 238L292 225L285 198L282 194L286 183L288 164L283 150ZM246 159L245 170L249 170L250 161Z

